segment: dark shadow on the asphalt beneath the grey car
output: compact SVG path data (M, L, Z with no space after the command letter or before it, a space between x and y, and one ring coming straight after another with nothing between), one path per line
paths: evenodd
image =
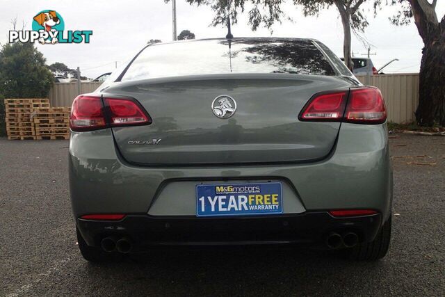
M350 262L330 251L229 246L153 250L123 262L86 264L85 272L86 281L100 275L126 294L338 295L378 283L382 267L383 261Z

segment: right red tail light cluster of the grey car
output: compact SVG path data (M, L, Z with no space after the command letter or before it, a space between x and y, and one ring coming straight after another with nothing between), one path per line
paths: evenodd
M381 124L387 119L387 111L378 88L351 88L349 92L316 94L298 118L301 121Z

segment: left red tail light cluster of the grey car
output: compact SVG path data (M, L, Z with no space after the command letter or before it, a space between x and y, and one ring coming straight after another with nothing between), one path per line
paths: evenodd
M73 131L148 125L151 122L149 115L134 99L90 95L79 95L74 99L70 117L70 127Z

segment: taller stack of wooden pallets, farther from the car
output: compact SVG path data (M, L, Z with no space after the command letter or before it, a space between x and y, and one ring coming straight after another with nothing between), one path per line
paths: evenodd
M35 107L49 106L48 99L5 99L8 139L35 139L31 114Z

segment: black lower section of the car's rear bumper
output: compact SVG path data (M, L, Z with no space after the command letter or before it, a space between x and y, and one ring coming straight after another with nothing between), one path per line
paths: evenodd
M131 242L131 252L154 246L207 246L293 243L313 248L327 248L327 236L354 232L359 242L375 238L382 225L382 215L334 218L326 211L280 216L230 218L153 217L128 215L119 221L76 220L89 246L101 245L113 236Z

